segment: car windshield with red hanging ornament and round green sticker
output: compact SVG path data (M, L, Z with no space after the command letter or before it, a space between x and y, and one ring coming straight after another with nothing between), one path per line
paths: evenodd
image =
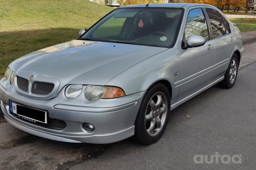
M79 39L169 47L175 42L182 9L116 9Z

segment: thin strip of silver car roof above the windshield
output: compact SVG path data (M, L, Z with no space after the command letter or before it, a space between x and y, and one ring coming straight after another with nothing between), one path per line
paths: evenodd
M208 4L201 4L201 3L149 3L148 7L175 7L175 8L184 8L187 9L189 7L193 7L193 6L211 6L214 7L212 5L208 5ZM131 8L135 8L135 7L146 7L146 4L136 4L136 5L127 5L127 6L122 6L119 8L126 8L126 7L131 7Z

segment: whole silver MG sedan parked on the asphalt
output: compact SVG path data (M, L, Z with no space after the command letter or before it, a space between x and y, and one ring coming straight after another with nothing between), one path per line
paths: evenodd
M13 126L63 142L163 135L170 110L216 83L232 88L239 29L214 6L140 4L108 13L80 37L12 62L0 81Z

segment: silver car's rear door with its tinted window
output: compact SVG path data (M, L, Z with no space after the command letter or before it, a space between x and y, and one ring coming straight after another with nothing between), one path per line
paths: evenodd
M226 19L215 9L205 8L208 15L212 39L216 48L215 74L217 78L224 75L233 55L235 37L233 37Z

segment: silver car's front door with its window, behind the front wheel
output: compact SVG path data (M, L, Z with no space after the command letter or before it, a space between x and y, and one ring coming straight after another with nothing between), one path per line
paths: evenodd
M192 7L188 10L183 31L183 43L187 42L190 35L200 35L206 39L206 43L194 48L179 47L181 81L178 101L207 86L215 77L215 45L214 40L210 39L209 22L206 22L203 8Z

